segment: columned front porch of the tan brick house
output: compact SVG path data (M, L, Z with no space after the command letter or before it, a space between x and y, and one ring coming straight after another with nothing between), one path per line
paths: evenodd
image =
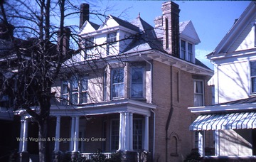
M140 151L148 152L149 117L155 108L152 104L131 99L52 107L50 116L55 123L55 132L48 140L52 144L53 157L60 161L67 153L90 159L97 151L107 158L117 151L126 152L125 155L132 153L132 156L137 156ZM30 117L26 112L19 114L22 117L20 138L29 139ZM20 142L19 152L28 151L28 142Z

